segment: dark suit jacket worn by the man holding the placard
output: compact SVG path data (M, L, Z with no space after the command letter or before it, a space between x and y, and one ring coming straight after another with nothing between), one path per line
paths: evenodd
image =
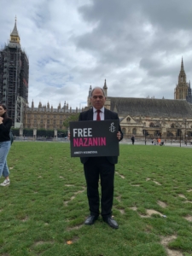
M104 119L105 120L110 120L110 119L119 119L118 114L115 112L112 112L105 108L104 111ZM90 108L87 111L81 112L79 115L79 121L88 121L88 120L93 120L93 108ZM120 140L123 138L123 132L121 131L120 125L119 125L119 131L121 134ZM117 156L106 156L108 161L111 164L117 164L118 162L118 157ZM87 160L89 160L89 157L80 157L80 160L82 164L84 164Z

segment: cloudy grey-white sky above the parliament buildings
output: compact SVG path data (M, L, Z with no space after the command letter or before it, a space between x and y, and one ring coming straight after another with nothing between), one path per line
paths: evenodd
M86 106L108 96L174 98L183 56L192 80L191 0L0 0L0 46L15 25L29 58L32 99Z

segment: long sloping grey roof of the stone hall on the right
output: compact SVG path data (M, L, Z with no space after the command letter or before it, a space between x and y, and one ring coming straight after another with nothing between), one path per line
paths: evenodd
M154 98L108 97L111 110L119 116L151 116L170 118L192 117L192 105L185 100L165 100Z

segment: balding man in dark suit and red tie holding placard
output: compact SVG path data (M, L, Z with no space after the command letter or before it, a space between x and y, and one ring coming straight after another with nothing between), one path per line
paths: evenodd
M117 113L104 108L105 101L104 90L100 87L94 88L90 97L93 108L80 113L79 121L119 119ZM120 141L122 138L123 133L119 125L117 140ZM98 184L100 177L102 187L102 218L113 229L118 229L119 225L112 218L114 165L117 164L118 157L81 157L80 160L84 164L84 176L87 183L87 196L90 206L90 216L85 220L84 224L94 224L99 216L100 199Z

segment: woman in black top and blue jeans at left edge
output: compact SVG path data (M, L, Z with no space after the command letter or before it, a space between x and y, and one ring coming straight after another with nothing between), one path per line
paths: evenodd
M10 148L9 132L12 125L12 119L9 119L7 108L0 104L0 177L5 177L5 180L0 185L9 186L9 168L7 165L7 156Z

